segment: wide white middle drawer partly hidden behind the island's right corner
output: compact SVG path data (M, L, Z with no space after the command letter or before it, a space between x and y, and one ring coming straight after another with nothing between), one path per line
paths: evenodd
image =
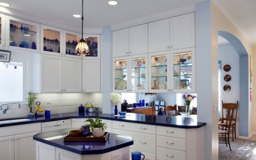
M112 132L119 135L131 136L133 139L133 145L130 146L130 149L141 150L143 152L156 154L156 135L130 132L119 129L112 129Z

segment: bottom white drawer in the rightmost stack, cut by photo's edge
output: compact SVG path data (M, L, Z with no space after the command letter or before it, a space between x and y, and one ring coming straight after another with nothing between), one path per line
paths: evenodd
M156 147L157 160L186 160L186 152Z

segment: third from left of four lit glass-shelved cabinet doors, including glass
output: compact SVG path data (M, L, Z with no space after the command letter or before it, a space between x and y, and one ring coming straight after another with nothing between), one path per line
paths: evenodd
M170 91L170 51L148 54L148 92L163 93Z

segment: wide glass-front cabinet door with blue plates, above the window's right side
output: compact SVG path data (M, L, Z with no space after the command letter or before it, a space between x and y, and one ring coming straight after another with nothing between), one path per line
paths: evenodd
M6 16L6 44L8 49L39 53L40 24Z

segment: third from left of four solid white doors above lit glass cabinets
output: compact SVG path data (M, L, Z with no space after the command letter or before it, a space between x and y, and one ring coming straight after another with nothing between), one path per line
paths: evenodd
M170 19L148 23L148 52L170 50Z

